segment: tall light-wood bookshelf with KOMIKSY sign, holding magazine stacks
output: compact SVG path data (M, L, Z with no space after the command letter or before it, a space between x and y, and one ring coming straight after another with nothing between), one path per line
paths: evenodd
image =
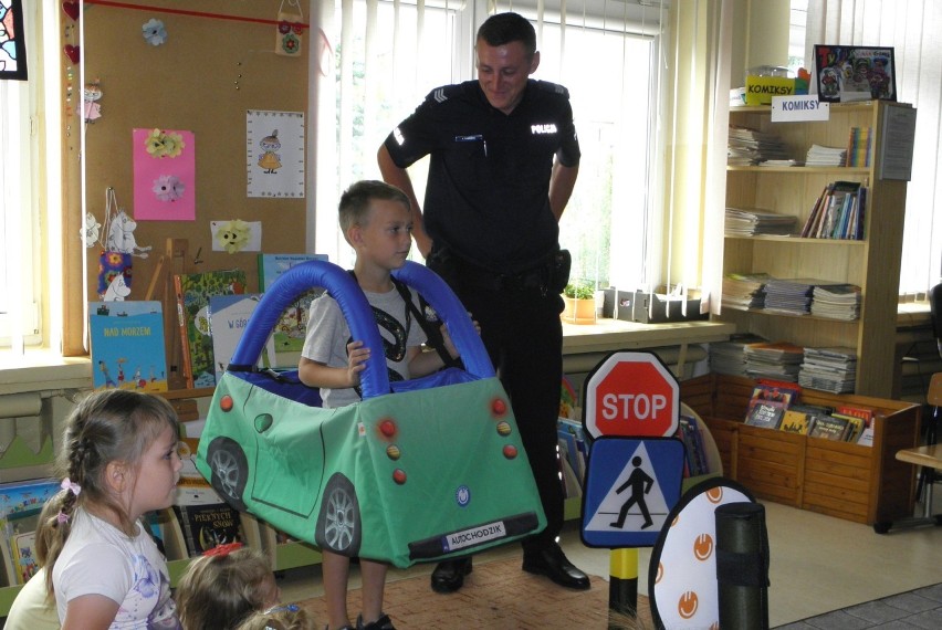
M779 315L724 307L719 321L739 333L802 346L846 346L858 356L856 393L890 398L896 360L897 295L902 252L907 182L881 179L888 139L880 134L888 112L907 104L886 101L831 104L825 122L773 123L768 106L730 108L730 124L771 132L795 158L813 144L846 147L854 127L869 127L870 166L726 167L726 206L764 208L798 217L800 230L821 190L836 180L868 187L864 240L796 237L724 238L723 273L765 272L777 279L816 279L861 287L860 317L842 322L810 315Z

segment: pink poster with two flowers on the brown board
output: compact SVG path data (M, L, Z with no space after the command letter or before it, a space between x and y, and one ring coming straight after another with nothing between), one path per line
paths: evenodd
M134 129L134 218L196 220L196 136L174 129Z

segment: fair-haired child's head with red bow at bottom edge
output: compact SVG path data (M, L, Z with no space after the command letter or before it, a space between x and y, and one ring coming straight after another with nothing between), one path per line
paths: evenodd
M252 611L276 605L280 594L264 554L240 547L190 561L175 599L184 628L224 630Z

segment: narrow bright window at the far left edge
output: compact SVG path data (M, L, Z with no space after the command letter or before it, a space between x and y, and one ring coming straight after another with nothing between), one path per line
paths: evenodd
M0 81L0 348L42 344L45 251L41 218L59 188L59 150L49 146L59 133L57 78L45 81L45 67L57 72L61 52L51 0L23 2L29 80ZM44 29L50 35L44 38ZM51 64L51 65L50 65ZM49 134L48 130L52 133ZM53 231L46 225L46 234ZM48 328L46 328L48 329Z

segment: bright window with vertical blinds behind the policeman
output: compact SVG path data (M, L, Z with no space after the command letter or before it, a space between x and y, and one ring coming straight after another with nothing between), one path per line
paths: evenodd
M349 4L346 14L346 2L322 13L329 45L318 90L318 128L337 132L320 134L316 177L315 250L344 266L352 266L353 256L336 225L341 191L357 179L378 177L379 145L426 94L477 76L474 33L484 18L472 23L472 17L485 14L484 3L471 1L426 2L423 9L401 1L398 11L386 1ZM512 9L533 20L541 51L534 78L569 90L583 151L561 224L561 243L573 252L572 276L598 286L639 285L653 267L650 244L657 241L651 209L658 196L651 191L659 82L653 69L662 9L619 6L613 17L603 13L603 7L615 10L611 3L568 2L568 14L561 17L557 3L545 4L542 21L535 19L535 6L514 3L495 11ZM419 200L427 162L409 169ZM412 255L419 256L415 248Z

